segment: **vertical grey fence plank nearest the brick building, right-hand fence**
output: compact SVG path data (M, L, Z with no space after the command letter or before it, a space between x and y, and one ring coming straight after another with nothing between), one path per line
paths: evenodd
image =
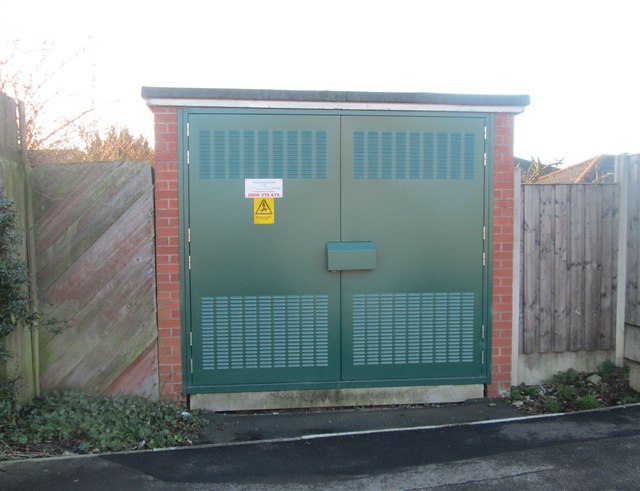
M523 353L535 353L538 349L539 246L540 246L540 193L538 186L524 186L524 252L523 271Z

